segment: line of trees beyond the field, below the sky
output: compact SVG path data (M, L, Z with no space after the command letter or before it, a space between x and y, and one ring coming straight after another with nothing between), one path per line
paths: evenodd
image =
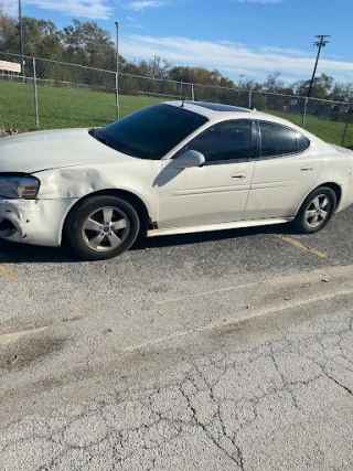
M60 30L52 21L22 17L24 55L85 65L100 69L116 69L116 46L111 34L95 21L77 19ZM19 22L7 14L0 3L0 51L19 54ZM245 79L235 83L216 68L208 71L197 66L175 66L165 58L128 61L119 55L119 71L125 74L225 88L269 92L307 96L310 81L298 81L285 86L281 74L275 71L265 82ZM352 84L340 84L327 74L314 78L311 96L321 99L346 101L353 99Z

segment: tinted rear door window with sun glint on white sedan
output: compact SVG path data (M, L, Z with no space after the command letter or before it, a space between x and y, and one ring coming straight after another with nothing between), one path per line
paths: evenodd
M260 122L261 157L286 156L302 152L310 146L309 139L284 126Z

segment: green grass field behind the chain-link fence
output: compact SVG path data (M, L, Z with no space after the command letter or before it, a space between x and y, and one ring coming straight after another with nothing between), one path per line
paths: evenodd
M119 97L120 117L164 99L143 96ZM117 117L114 94L72 88L38 87L40 129L104 126ZM286 111L268 111L301 126L301 116ZM34 93L29 84L0 81L0 129L35 129ZM307 116L306 129L327 142L341 144L344 122ZM344 144L353 147L353 124Z

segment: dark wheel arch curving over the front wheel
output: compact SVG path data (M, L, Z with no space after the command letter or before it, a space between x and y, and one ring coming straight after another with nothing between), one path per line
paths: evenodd
M117 196L117 197L120 197L121 200L125 200L126 202L130 203L131 206L133 206L133 208L136 210L136 212L139 216L139 220L140 220L140 235L145 236L147 234L148 229L152 226L148 208L147 208L146 204L143 203L143 201L139 196L137 196L135 193L131 193L127 190L106 189L106 190L99 190L99 191L86 194L85 196L77 200L75 202L75 204L73 204L73 206L67 212L65 220L63 222L62 239L63 239L64 234L65 234L66 222L68 220L68 216L72 214L72 212L77 207L78 204L82 204L84 201L90 200L92 197L95 197L95 196Z

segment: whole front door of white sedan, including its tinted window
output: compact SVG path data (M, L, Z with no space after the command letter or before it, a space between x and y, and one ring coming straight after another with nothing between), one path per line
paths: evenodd
M211 126L178 156L197 150L205 157L199 168L175 169L163 162L160 175L158 226L185 227L242 220L254 172L255 130L250 120Z

